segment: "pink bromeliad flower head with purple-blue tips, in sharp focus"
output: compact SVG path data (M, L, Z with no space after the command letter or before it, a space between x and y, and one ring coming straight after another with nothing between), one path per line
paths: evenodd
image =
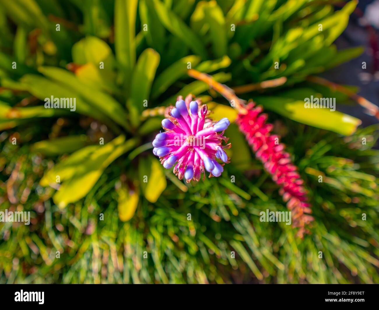
M219 177L224 171L224 164L219 164L216 158L229 163L230 158L224 149L230 147L229 138L224 137L224 130L230 122L224 117L213 123L206 117L208 106L196 101L189 102L189 111L184 100L178 100L176 107L169 112L169 118L162 121L165 132L158 133L153 141L153 153L160 157L164 168L174 166L174 173L187 183L192 179L200 180L205 171L210 172L209 177Z

